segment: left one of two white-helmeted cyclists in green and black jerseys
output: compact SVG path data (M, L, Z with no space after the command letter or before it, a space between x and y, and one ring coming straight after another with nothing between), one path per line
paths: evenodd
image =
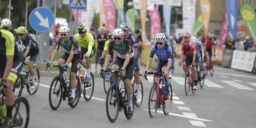
M69 35L69 28L67 26L61 26L59 28L60 32L60 38L56 40L56 46L54 49L54 52L51 57L51 61L47 63L48 66L51 66L54 59L57 56L57 53L59 51L59 47L62 46L66 49L66 52L60 56L58 60L58 65L61 67L67 67L70 62L72 62L71 70L70 70L70 76L71 76L71 97L69 100L69 104L74 103L75 101L75 89L76 89L76 72L79 69L80 66L80 60L81 60L81 49L77 43L77 40L74 36ZM60 68L59 68L60 71ZM62 73L63 78L65 79L65 83L67 83L67 79L65 77L64 72Z

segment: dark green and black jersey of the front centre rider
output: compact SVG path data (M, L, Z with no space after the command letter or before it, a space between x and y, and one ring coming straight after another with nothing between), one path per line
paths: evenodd
M118 56L122 59L125 59L126 56L130 56L130 58L132 58L134 56L132 43L131 43L131 41L129 41L127 39L123 39L123 43L120 45L117 45L115 43L115 41L111 41L109 43L106 56L111 57L113 49L115 49L115 51L117 51Z

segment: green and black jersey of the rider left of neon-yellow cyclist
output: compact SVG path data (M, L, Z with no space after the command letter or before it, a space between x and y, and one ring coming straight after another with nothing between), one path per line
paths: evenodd
M69 35L68 37L68 41L65 42L60 38L57 39L56 41L56 46L54 49L54 52L58 52L59 51L59 46L61 45L64 49L66 49L66 53L70 54L70 53L74 53L74 54L81 54L81 49L77 43L77 40L74 36Z

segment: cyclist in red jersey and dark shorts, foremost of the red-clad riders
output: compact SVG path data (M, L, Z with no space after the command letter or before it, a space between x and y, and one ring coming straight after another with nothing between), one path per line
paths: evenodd
M197 57L197 48L195 44L188 44L188 43L184 43L181 49L181 60L183 60L183 55L184 53L186 53L187 57L184 60L184 63L191 63L192 65L196 66L197 69L197 64L198 64L198 57ZM182 61L179 62L179 65L182 64ZM183 70L185 72L187 72L187 67L186 65L183 65ZM194 80L195 80L195 85L194 85L194 90L197 89L197 70L195 68L193 69L194 72Z

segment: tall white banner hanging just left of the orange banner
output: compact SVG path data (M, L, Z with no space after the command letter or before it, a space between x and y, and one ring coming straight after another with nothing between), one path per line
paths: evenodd
M182 0L182 25L188 33L192 33L196 20L196 0Z

